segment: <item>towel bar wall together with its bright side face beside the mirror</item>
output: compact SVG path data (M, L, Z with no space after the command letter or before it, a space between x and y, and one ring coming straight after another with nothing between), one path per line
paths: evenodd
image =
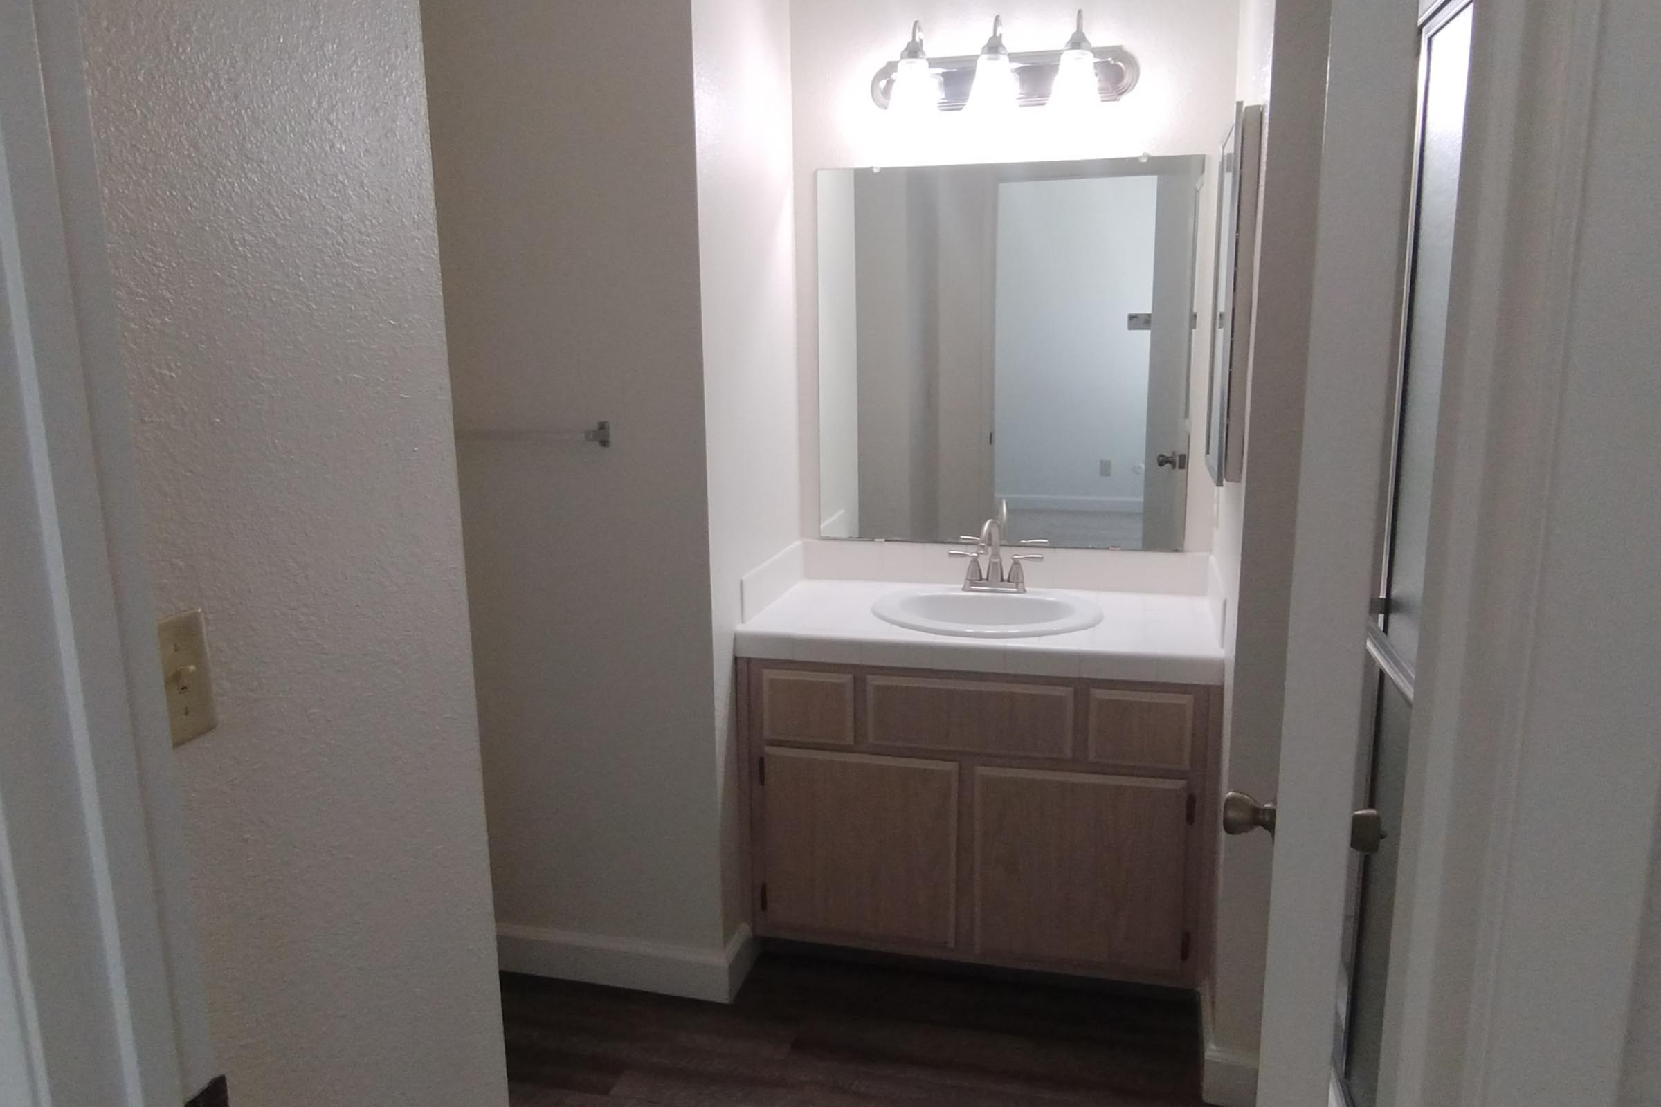
M719 994L737 586L801 514L789 10L425 25L457 422L616 435L462 448L498 923L525 968Z

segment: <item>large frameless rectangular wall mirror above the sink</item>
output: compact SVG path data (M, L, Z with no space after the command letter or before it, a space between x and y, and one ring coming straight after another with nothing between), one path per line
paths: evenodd
M1181 549L1203 171L822 169L821 534Z

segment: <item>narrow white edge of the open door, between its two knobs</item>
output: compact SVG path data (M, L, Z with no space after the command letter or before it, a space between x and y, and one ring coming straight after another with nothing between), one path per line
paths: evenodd
M1332 5L1257 1082L1272 1107L1325 1104L1332 1089L1415 23L1412 0Z

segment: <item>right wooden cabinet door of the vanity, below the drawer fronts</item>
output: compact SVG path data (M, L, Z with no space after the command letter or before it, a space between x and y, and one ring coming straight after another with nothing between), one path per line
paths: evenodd
M1186 841L1181 780L978 768L977 953L1179 974Z

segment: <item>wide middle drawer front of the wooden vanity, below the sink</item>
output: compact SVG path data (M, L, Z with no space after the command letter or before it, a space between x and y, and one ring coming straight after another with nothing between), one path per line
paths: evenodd
M1073 689L867 677L865 740L957 753L1060 757L1073 749Z

